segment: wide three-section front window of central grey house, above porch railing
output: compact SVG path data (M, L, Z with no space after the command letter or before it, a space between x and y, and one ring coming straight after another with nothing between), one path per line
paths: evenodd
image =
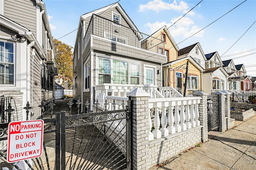
M140 84L140 64L115 59L98 59L98 84Z

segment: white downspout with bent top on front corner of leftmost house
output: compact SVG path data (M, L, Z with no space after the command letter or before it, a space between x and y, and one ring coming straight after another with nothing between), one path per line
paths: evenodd
M26 101L30 102L30 48L35 44L35 41L31 41L30 44L27 45L27 77L26 77L26 82L27 82L27 96L26 96ZM31 102L30 102L31 104ZM33 107L33 106L32 106Z

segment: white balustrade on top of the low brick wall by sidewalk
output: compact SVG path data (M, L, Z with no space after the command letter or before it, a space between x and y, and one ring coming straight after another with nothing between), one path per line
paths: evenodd
M200 97L149 99L149 141L200 125L198 120L200 99ZM154 108L155 115L154 130L151 132L150 110L152 108ZM161 119L160 113L162 113ZM160 126L162 127L160 128Z

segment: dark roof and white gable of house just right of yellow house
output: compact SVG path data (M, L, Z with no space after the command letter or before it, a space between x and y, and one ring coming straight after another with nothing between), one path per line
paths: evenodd
M200 43L195 43L178 51L178 59L191 56L202 68L205 69L206 57Z

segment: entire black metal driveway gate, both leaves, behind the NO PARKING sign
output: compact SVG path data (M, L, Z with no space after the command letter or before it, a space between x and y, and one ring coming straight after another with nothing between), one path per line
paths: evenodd
M7 115L5 121L0 123L0 170L11 170L13 167L23 170L24 166L31 170L130 170L130 98L128 106L122 106L120 110L76 115L66 115L66 111L61 111L55 113L54 118L44 118L43 155L21 161L22 166L6 162L6 147L2 146L7 143L10 121L6 120L11 114ZM14 109L10 107L9 110Z

